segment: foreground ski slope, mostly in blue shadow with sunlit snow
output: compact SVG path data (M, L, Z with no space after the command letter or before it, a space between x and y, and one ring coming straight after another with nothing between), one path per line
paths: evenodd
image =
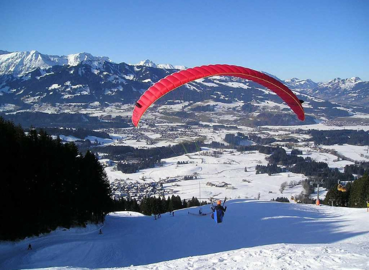
M199 208L158 220L117 212L103 234L88 227L2 243L0 269L369 269L366 209L253 199L226 205L220 224L197 215Z

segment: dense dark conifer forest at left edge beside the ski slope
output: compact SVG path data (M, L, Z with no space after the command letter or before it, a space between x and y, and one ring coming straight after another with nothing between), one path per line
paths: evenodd
M45 131L25 134L1 117L0 149L0 239L103 221L110 188L93 154L80 155L75 144L62 144Z

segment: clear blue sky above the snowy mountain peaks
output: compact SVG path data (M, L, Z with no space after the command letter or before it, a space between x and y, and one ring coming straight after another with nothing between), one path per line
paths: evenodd
M4 1L0 50L369 81L369 1Z

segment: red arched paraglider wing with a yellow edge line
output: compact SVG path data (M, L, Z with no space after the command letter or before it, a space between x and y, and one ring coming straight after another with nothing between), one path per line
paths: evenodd
M135 104L132 112L132 123L137 126L145 111L166 93L197 79L211 76L233 76L259 83L281 97L284 102L297 114L302 121L305 120L305 112L300 100L287 86L280 81L259 71L246 67L228 64L214 64L196 66L192 69L181 70L159 80L147 89Z

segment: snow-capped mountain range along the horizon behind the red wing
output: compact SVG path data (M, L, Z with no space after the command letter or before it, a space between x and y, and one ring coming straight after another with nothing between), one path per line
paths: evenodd
M2 51L2 53L0 111L4 112L33 110L35 106L40 107L43 104L51 106L57 104L89 106L96 102L100 106L115 103L134 104L142 92L153 83L176 70L186 68L171 64L155 64L149 59L133 65L124 62L115 63L108 57L96 57L86 52L67 56L46 55L38 51ZM369 107L369 82L363 82L359 78L346 80L338 78L326 83L292 78L282 82L306 101L305 110L310 115L324 115L327 118L351 115L353 107L332 111L337 105L325 102L323 106L322 99ZM162 105L167 100L201 102L209 99L223 103L257 104L269 101L281 104L278 96L259 84L224 76L196 80L180 87L178 91L173 91L158 102ZM242 110L255 113L260 106L246 107ZM280 110L282 109L280 107ZM365 108L360 110L364 112ZM285 111L290 113L289 110Z

